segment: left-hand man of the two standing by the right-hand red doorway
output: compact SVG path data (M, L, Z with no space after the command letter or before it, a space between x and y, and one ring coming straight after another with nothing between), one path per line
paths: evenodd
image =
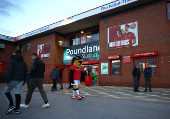
M134 80L134 92L140 92L139 91L139 85L140 85L140 69L139 69L139 64L137 64L133 71L132 71L132 75L133 75L133 80Z

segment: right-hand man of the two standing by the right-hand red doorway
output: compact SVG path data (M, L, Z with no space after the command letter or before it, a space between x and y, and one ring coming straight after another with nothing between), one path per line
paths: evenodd
M151 90L151 74L152 74L152 68L149 66L149 64L146 64L146 68L144 69L144 74L145 74L145 91L147 92L147 82L149 83L149 91L152 92Z

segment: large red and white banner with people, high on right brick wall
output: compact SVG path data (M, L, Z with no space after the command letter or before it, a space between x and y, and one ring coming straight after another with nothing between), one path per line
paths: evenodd
M108 49L138 45L138 23L131 22L108 28Z

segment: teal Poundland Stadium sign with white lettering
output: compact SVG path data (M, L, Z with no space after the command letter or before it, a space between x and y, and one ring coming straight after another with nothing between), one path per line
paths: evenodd
M63 65L71 63L72 58L77 55L84 61L99 60L99 41L64 48Z

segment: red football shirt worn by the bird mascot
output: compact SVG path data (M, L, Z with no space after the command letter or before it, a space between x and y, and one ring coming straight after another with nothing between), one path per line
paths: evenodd
M81 68L77 68L74 65L70 67L70 70L74 70L73 80L81 79Z

